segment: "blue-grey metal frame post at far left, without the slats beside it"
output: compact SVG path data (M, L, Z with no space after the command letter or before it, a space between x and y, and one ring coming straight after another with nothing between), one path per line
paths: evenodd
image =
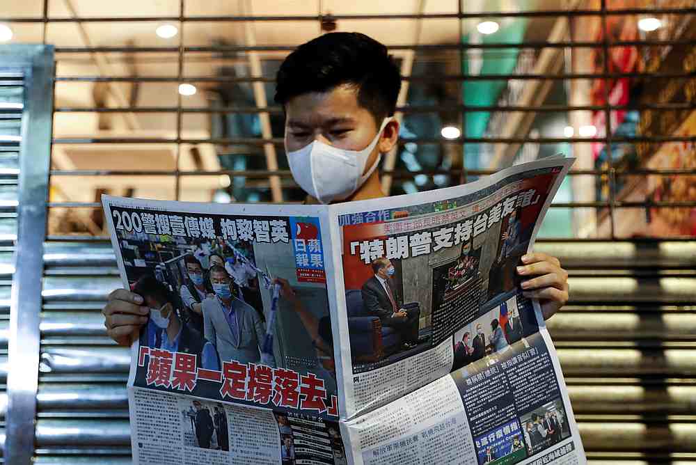
M5 463L29 465L34 452L38 389L54 57L50 45L19 45L0 49L0 63L13 65L17 55L24 58L25 85L19 145L17 245L13 258L15 275L10 300Z

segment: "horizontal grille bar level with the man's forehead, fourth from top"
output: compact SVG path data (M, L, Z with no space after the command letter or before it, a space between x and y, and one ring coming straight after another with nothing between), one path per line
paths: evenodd
M525 111L530 113L555 113L563 111L604 111L604 105L541 105L539 107L520 107L516 105L406 105L396 107L396 111L402 113L441 113L443 111ZM696 103L641 103L616 105L610 107L612 111L674 111L696 109ZM56 113L177 113L177 107L56 107ZM283 108L274 107L182 107L181 113L283 113Z

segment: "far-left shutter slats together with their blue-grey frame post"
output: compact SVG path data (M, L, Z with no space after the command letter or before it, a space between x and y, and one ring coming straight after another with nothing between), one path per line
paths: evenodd
M0 47L0 362L8 464L33 455L53 77L53 47Z

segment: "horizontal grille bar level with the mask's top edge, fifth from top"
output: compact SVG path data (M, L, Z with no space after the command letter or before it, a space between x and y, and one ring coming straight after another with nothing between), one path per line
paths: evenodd
M527 137L460 137L458 139L441 139L436 137L418 137L400 139L400 144L416 143L596 143L606 142L606 137L539 137L539 139L529 139ZM612 143L636 143L636 142L693 142L696 136L634 136L634 137L612 137ZM274 137L272 139L260 139L254 137L235 137L229 139L168 139L164 137L56 137L53 143L58 144L86 144L86 143L212 143L218 145L264 145L273 143L283 145L283 138Z

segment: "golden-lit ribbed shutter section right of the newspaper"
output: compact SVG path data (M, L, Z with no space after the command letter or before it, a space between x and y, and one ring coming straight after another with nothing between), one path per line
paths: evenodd
M588 457L696 463L696 242L542 242L537 250L571 275L571 301L548 327Z

